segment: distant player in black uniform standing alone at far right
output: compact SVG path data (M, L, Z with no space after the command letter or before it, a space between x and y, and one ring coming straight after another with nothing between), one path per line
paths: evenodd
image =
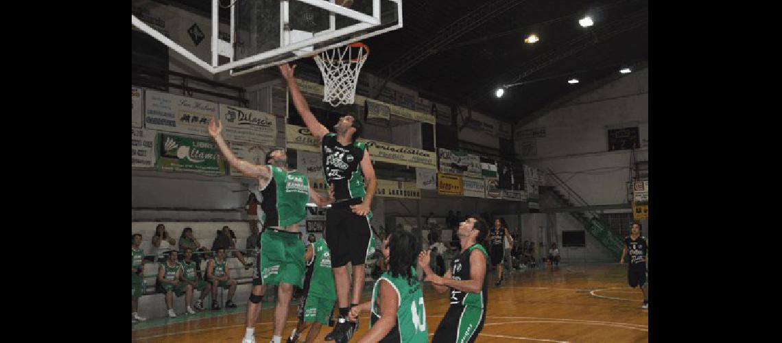
M642 309L649 308L649 286L647 284L647 255L649 241L640 235L640 223L633 223L630 227L630 236L625 238L625 248L622 249L622 259L619 263L625 263L625 254L630 252L630 264L627 265L627 280L630 287L640 286L644 293L644 305Z

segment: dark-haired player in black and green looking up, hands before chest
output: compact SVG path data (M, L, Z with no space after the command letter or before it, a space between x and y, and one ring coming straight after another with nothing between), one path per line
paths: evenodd
M489 226L478 216L470 216L459 224L457 236L461 252L450 264L443 277L437 276L429 266L429 251L418 255L418 265L423 268L424 280L432 282L439 293L450 290L450 307L440 321L432 343L472 343L486 321L486 249L478 242L486 239Z

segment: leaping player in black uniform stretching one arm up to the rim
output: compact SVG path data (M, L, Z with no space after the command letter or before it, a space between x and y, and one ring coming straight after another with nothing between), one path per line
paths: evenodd
M350 321L350 307L361 300L364 286L364 263L375 253L375 239L369 227L372 197L377 180L367 145L357 141L363 124L353 116L343 116L334 126L336 133L328 132L318 123L301 94L296 77L296 66L287 63L279 66L288 83L293 105L299 112L313 137L321 141L323 171L326 183L334 192L335 202L326 212L326 230L323 233L332 252L332 270L339 304L339 320L326 340L337 343L350 341L358 327L358 321ZM353 266L353 294L350 295L350 276L346 264Z

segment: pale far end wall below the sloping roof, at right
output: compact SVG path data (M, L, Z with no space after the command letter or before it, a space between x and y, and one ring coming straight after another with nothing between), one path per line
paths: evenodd
M636 159L644 161L648 120L648 69L637 70L517 127L517 133L533 128L546 132L546 137L532 138L536 155L519 157L542 170L554 170L590 205L626 203L630 151L608 152L608 129L639 127ZM517 152L522 141L517 134Z

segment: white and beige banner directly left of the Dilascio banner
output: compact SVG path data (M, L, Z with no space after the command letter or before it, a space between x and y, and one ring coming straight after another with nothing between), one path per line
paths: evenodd
M146 90L144 122L148 129L209 136L209 120L218 116L216 102Z

